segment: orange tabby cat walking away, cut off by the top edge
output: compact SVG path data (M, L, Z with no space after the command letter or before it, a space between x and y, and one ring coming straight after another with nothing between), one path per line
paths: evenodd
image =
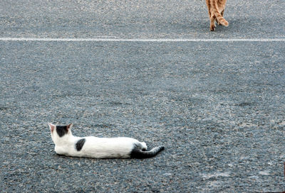
M206 0L210 19L210 31L214 31L216 27L214 21L216 21L219 26L229 26L227 20L224 19L224 9L226 7L226 1L227 0Z

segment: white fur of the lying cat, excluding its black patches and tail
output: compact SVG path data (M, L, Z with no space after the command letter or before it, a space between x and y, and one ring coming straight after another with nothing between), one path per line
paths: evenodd
M86 142L83 148L76 150L76 143L80 137L73 136L71 127L68 133L62 137L58 136L56 126L48 123L51 128L51 138L55 144L55 151L61 155L87 158L130 158L130 153L137 145L147 150L147 145L134 138L97 138L93 136L84 137ZM72 125L71 125L72 126Z

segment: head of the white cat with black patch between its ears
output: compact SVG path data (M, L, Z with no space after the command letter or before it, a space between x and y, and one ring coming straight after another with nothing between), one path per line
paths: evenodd
M73 126L72 123L67 126L56 126L53 125L52 123L48 123L48 126L51 130L51 138L53 139L54 143L57 143L58 141L68 136L72 136L71 133L71 127Z

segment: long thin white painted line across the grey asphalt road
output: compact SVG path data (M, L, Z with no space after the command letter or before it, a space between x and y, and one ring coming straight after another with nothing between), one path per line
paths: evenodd
M0 38L1 41L43 42L285 42L285 38L226 38L226 39L171 39L171 38Z

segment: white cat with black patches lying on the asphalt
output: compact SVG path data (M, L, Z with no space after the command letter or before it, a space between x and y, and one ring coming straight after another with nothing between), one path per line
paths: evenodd
M56 126L48 123L55 151L60 155L86 158L152 158L164 146L147 150L147 145L134 138L76 137L71 133L73 124Z

